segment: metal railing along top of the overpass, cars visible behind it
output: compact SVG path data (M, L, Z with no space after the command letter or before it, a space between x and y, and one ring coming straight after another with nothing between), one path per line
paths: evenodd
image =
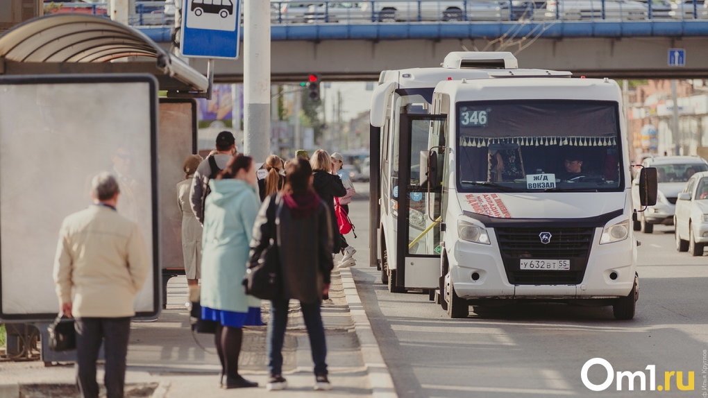
M179 1L179 0L177 0ZM135 1L131 25L171 25L173 0ZM107 14L106 3L45 3L45 13ZM676 21L707 19L703 0L270 1L277 25L468 21Z

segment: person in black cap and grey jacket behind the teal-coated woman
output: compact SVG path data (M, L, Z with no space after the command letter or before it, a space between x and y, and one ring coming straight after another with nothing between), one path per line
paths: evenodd
M204 224L204 203L210 193L209 181L214 179L219 171L226 168L227 163L236 156L236 139L231 131L222 131L217 135L215 155L207 156L194 172L190 188L190 206L200 223Z

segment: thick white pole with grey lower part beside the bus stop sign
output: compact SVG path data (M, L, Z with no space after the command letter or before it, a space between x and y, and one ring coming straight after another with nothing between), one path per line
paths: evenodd
M270 154L269 1L244 1L244 153Z

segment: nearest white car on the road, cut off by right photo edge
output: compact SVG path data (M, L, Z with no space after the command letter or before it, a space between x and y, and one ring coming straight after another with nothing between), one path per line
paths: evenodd
M708 243L708 172L697 172L678 194L676 214L676 250L703 255Z

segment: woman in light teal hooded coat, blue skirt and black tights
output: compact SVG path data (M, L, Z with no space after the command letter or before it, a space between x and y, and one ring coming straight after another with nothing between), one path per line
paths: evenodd
M222 364L222 388L257 387L239 375L244 325L261 325L261 301L244 293L241 281L261 201L253 159L229 161L205 201L202 235L202 319L217 322L214 341ZM222 382L226 375L226 381Z

